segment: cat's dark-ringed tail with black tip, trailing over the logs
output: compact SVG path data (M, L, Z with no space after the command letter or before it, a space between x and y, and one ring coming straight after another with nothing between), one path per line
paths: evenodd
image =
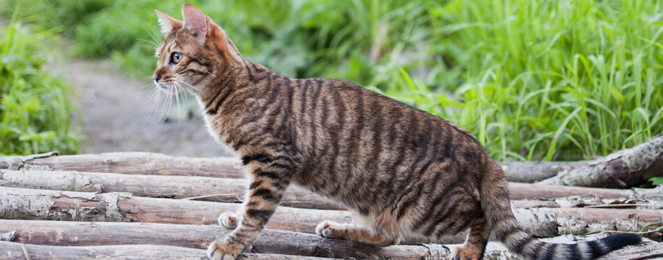
M479 194L487 222L493 234L509 251L526 259L596 259L627 245L639 245L636 234L616 234L599 240L576 244L544 243L521 229L509 204L507 181L496 162L489 163L490 173L482 180Z

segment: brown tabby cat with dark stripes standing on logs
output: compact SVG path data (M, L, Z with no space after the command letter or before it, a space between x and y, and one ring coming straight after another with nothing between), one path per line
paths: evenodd
M468 131L350 82L292 79L247 61L190 3L184 21L156 13L165 37L154 84L195 95L209 133L241 157L250 181L242 210L219 217L234 231L209 245L211 259L239 258L293 183L368 223L323 221L316 234L378 247L468 229L454 259L482 259L491 232L527 259L594 259L641 243L635 234L543 243L519 227L500 166Z

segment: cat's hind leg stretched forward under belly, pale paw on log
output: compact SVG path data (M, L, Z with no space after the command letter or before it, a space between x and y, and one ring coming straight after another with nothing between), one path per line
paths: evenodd
M353 224L341 224L331 221L323 221L315 228L315 234L325 238L341 238L355 240L359 243L386 247L401 242L400 238L393 238L379 231L370 231Z

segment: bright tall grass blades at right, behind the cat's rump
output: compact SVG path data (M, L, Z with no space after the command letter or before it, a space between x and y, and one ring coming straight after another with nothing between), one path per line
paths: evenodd
M496 157L595 158L663 132L661 1L428 8L443 70L427 77L440 84L392 93L421 97L412 104L469 128Z

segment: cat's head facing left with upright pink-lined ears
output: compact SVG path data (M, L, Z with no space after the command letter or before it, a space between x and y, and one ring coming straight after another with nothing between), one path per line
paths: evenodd
M191 3L182 6L179 21L156 10L163 43L156 49L159 61L154 83L167 93L185 89L203 96L218 77L228 77L243 66L244 58L228 35Z

